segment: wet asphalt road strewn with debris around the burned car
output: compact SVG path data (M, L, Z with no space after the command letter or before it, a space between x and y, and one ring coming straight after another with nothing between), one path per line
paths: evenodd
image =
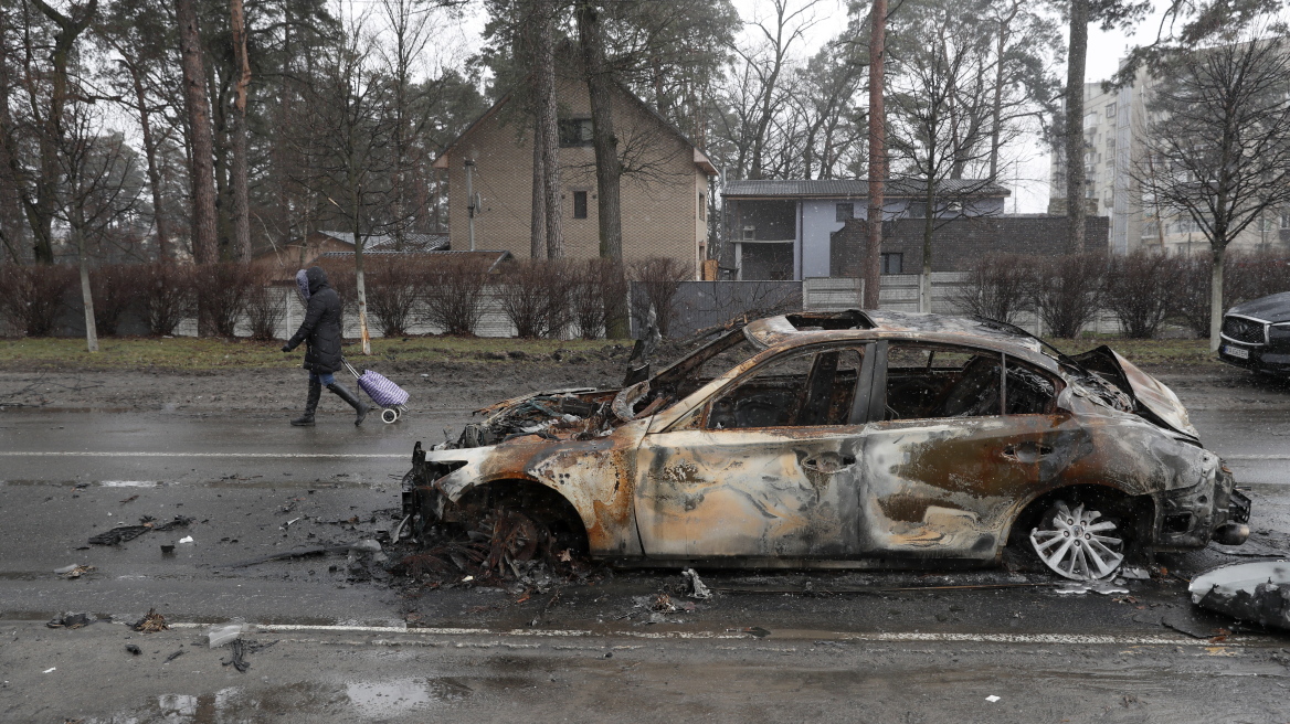
M237 566L388 529L412 443L466 419L0 412L0 720L1290 720L1290 639L1210 640L1233 624L1174 576L1066 595L1007 571L704 572L717 598L659 616L642 602L677 593L675 571L406 598L344 554ZM1290 553L1290 406L1200 405L1192 420L1251 488L1256 535L1236 553ZM175 515L192 523L88 545ZM1165 563L1187 577L1229 553ZM72 563L94 571L53 573ZM119 624L148 608L175 629ZM63 611L115 622L44 626ZM277 642L245 674L199 645L235 617Z

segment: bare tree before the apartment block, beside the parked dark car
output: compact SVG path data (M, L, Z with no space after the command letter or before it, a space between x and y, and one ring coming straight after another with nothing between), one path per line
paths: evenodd
M1290 53L1278 26L1231 32L1218 46L1173 54L1148 103L1146 153L1134 169L1166 213L1210 243L1210 348L1223 318L1227 246L1290 204Z

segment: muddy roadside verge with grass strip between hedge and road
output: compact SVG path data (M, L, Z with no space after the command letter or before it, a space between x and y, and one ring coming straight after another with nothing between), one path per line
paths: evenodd
M1059 340L1058 347L1075 353L1102 343ZM277 343L111 340L93 357L80 344L0 340L0 407L223 414L290 411L303 403L302 353L283 354ZM1290 383L1216 362L1204 340L1111 344L1189 408L1290 407ZM531 390L614 386L630 356L626 344L605 341L441 338L374 340L374 352L362 358L351 353L351 359L406 389L413 407L444 411L475 410ZM187 366L172 366L181 363Z

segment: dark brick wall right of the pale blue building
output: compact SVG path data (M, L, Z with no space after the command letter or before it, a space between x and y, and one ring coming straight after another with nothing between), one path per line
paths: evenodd
M1107 216L1085 218L1085 246L1106 249ZM987 254L1068 254L1066 216L991 216L949 222L931 237L931 271L965 272ZM859 255L866 242L866 223L851 219L829 238L829 276L858 273ZM888 222L882 229L882 252L902 254L906 273L922 269L922 219Z

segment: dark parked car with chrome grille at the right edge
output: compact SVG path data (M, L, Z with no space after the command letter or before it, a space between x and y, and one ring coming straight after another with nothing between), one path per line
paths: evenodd
M1223 316L1222 361L1262 372L1290 374L1290 291L1227 310Z

